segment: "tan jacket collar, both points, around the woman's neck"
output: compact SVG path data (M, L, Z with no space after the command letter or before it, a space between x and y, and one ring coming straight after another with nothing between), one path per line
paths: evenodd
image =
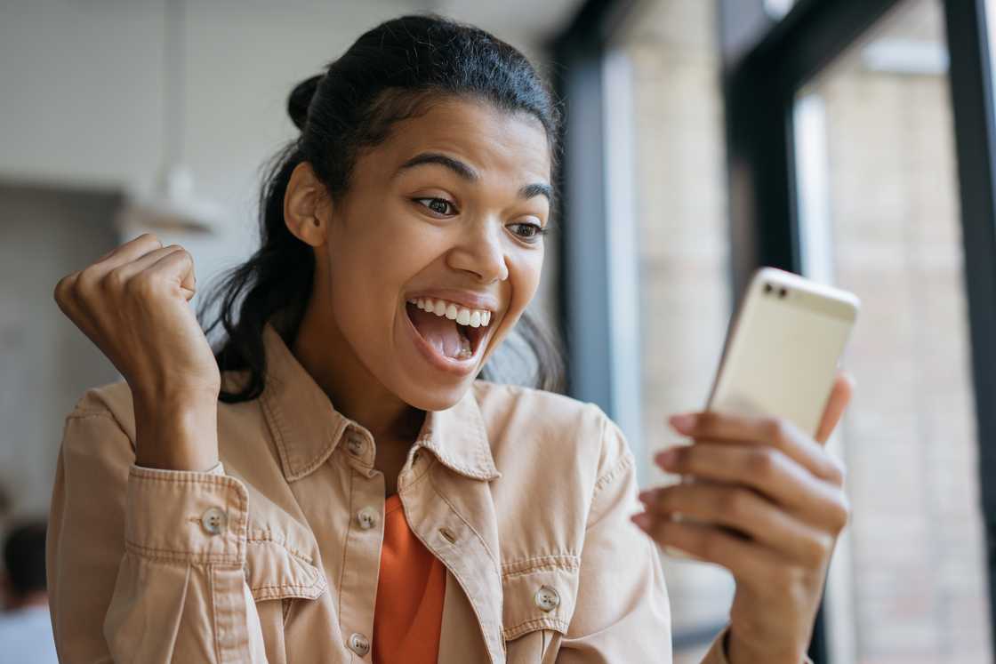
M351 427L366 429L335 409L329 396L301 365L279 332L267 323L266 385L263 412L289 482L310 475L336 450ZM367 432L368 435L369 432ZM415 441L450 470L474 480L501 476L495 468L484 418L474 396L466 393L446 410L427 411Z

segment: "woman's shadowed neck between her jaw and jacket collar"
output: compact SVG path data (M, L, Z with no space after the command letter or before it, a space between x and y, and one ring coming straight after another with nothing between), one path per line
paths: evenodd
M405 403L373 377L328 316L332 310L316 300L309 303L291 352L336 410L366 427L377 443L414 442L425 411Z

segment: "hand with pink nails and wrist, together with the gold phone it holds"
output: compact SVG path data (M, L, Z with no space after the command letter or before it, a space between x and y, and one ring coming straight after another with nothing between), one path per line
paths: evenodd
M823 443L851 398L835 374L857 311L851 294L758 272L707 409L671 418L694 444L655 459L693 481L640 494L646 512L632 521L654 542L736 579L731 660L800 661L809 643L850 514L843 466Z

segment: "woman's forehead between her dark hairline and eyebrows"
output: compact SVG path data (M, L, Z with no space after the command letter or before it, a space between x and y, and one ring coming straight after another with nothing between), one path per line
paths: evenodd
M550 180L550 146L540 120L485 102L429 103L424 112L396 122L374 151L382 165L394 168L419 152L432 151L460 157L484 177L500 175L516 183Z

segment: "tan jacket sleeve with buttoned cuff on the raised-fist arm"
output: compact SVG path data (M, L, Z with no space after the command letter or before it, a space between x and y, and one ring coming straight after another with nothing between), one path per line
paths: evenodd
M245 487L220 464L140 468L132 450L107 409L66 419L47 542L60 661L264 663Z

